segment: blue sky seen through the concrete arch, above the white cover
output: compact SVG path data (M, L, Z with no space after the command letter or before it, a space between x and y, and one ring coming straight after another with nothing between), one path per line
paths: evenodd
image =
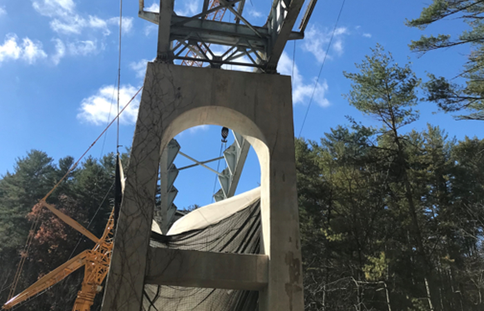
M180 153L174 159L178 170L174 187L178 194L174 204L179 210L189 210L215 202L214 194L221 191L221 184L217 173L231 173L226 157L232 156L232 151L243 152L236 142L236 138L230 130L227 142L221 142L221 126L204 125L187 129L174 137L180 146ZM248 142L245 142L248 144ZM245 146L244 146L245 147ZM232 150L236 149L238 150ZM245 148L244 148L245 149ZM234 195L241 194L261 185L261 169L259 159L253 148L247 148L245 155L236 160L245 161L237 163L242 167L236 170ZM227 159L227 160L226 160ZM198 164L201 162L203 165ZM212 170L210 170L212 169ZM227 171L228 169L228 171Z

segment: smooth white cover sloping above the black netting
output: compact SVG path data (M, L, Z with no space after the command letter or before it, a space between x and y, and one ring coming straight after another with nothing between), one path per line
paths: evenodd
M261 198L261 187L227 198L210 205L205 205L189 212L187 215L176 220L169 229L167 236L173 236L194 229L203 229L227 218L237 211L248 207Z

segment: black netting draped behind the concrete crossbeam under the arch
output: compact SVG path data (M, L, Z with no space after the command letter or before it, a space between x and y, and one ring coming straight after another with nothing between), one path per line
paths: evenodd
M206 252L259 254L260 199L218 223L181 234L153 233L151 247L192 249ZM256 311L259 292L145 285L145 311Z

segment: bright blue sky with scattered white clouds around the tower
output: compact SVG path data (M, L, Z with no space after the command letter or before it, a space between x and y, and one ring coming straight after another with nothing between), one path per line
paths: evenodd
M154 1L145 2L146 7L156 10ZM176 0L176 12L193 15L201 10L202 2ZM272 0L247 1L244 15L262 26L271 3ZM355 72L354 64L361 62L377 43L391 51L397 62L412 62L413 70L424 80L427 72L445 77L460 73L468 47L436 51L420 58L409 51L410 41L424 33L457 35L465 29L458 20L443 21L425 32L404 26L405 19L418 17L426 3L429 1L346 1L301 134L304 138L318 140L331 127L348 124L345 115L364 124L375 124L342 97L350 85L342 72ZM296 42L295 135L301 130L341 5L342 0L319 1L306 38ZM137 14L138 1L124 0L122 106L142 85L146 62L156 55L156 26L139 19ZM229 14L225 18L231 17ZM104 129L109 117L115 115L118 21L118 1L0 0L0 173L11 171L15 159L30 149L46 151L55 160L79 157ZM281 74L292 73L293 44L288 43L281 57ZM120 143L125 147L133 139L136 109L134 102L122 115ZM421 130L429 122L458 139L465 135L483 137L482 122L455 121L452 115L439 113L431 103L422 103L418 109L420 120L408 129ZM218 126L189 129L177 137L182 150L198 160L217 157L220 139ZM115 151L115 144L113 128L90 154L99 158ZM190 163L178 157L176 164L182 167ZM223 168L225 164L220 165ZM175 182L180 190L176 205L210 203L214 178L203 168L182 171ZM259 180L259 164L251 151L238 192L257 187Z

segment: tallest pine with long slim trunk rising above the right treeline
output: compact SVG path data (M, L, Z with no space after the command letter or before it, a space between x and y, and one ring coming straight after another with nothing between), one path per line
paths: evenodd
M412 107L418 104L416 95L420 79L409 64L398 66L391 53L385 53L382 46L372 49L373 55L357 64L359 73L344 73L351 79L351 91L346 95L349 104L382 123L379 146L387 150L388 165L394 178L391 191L397 200L392 200L393 209L406 210L409 217L409 237L416 249L416 258L423 272L422 288L426 289L430 310L437 303L434 282L434 267L425 247L426 237L422 232L422 211L418 204L415 187L412 187L412 171L409 167L407 138L400 133L402 126L417 120L418 111ZM400 199L402 196L403 199Z

